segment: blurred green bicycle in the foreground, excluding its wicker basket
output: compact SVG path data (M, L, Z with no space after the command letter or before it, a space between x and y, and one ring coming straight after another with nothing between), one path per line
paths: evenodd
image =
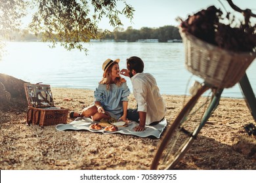
M238 12L245 11L236 7L230 0L228 0L228 3ZM250 10L247 9L246 12L249 12L251 16L256 17L256 15L252 14ZM185 35L182 37L183 41L184 36ZM202 46L202 42L199 42L198 44ZM205 49L207 50L208 48ZM243 59L243 57L244 56L238 59ZM256 53L254 53L250 58L251 62L255 57ZM237 61L239 61L238 59ZM194 58L194 60L196 60L196 58ZM186 62L189 61L186 60ZM242 69L238 72L238 76L235 76L234 80L229 81L230 83L226 81L216 83L218 81L212 78L207 78L207 76L203 76L200 71L192 71L193 68L190 67L191 65L186 63L188 71L192 72L194 75L204 78L204 82L202 84L195 82L194 86L192 86L192 97L186 105L184 105L181 112L175 118L173 124L171 124L165 131L165 135L158 145L157 152L154 156L150 169L173 169L183 158L184 154L186 154L192 143L196 140L198 133L200 133L200 130L214 112L215 108L218 107L221 99L221 93L224 88L230 88L237 82L240 84L247 107L251 111L251 115L256 122L256 98L245 73L251 62L247 63L247 66L243 68L244 70ZM227 67L230 67L230 65ZM226 71L223 72L225 73ZM214 71L212 73L214 73ZM209 92L209 94L205 96L205 93L207 92Z

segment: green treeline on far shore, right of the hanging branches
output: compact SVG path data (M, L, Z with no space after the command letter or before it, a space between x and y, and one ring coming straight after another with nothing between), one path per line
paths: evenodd
M136 42L139 39L158 39L159 42L167 42L168 40L181 39L181 35L179 29L172 25L159 28L142 27L140 30L128 27L125 31L117 27L106 39L127 42Z

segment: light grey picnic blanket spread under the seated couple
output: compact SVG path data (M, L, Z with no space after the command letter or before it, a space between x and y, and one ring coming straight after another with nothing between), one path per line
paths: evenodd
M58 131L64 131L64 130L70 130L70 129L71 130L87 130L91 132L100 132L104 134L121 133L125 135L135 135L138 137L154 136L159 139L161 133L163 132L163 129L167 125L166 120L163 119L157 125L146 125L144 131L135 131L133 128L138 125L137 122L130 122L126 127L118 127L119 129L118 131L106 132L103 129L100 129L98 131L89 129L89 126L94 123L95 122L93 122L91 118L79 117L79 118L76 118L73 122L70 122L69 124L56 125L56 129Z

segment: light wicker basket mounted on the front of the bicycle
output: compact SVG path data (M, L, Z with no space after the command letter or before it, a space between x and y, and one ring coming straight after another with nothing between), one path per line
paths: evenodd
M256 57L254 52L231 52L181 31L185 48L185 65L190 73L200 76L217 88L230 88L241 80Z

